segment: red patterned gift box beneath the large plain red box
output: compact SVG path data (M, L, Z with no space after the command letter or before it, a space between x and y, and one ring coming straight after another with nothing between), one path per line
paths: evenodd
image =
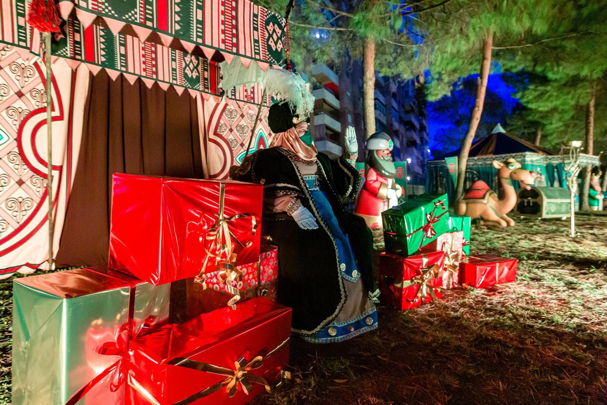
M237 267L242 272L242 280L234 283L240 291L240 300L236 305L251 298L262 296L272 302L277 299L278 282L278 247L262 245L259 261ZM233 294L226 291L225 283L221 283L219 274L211 274L206 279L206 289L194 279L188 279L186 284L186 306L188 318L208 313L228 305Z

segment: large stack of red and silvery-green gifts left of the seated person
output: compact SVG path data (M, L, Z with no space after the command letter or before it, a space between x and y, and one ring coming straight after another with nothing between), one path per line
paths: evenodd
M13 282L12 403L244 404L279 383L291 309L273 302L262 193L114 175L109 266Z

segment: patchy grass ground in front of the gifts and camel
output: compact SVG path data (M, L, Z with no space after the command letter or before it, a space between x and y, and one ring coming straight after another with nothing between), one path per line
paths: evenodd
M291 342L293 379L256 404L607 403L607 216L475 226L472 253L518 258L517 282L455 289L331 345ZM381 235L375 251L383 249ZM0 403L10 403L12 282L0 280Z

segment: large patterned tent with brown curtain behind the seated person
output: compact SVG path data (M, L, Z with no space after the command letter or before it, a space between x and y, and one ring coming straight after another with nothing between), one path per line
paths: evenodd
M0 277L48 257L46 77L29 4L0 6ZM285 21L248 0L58 6L53 252L58 266L98 265L113 172L227 178L249 139L267 147L271 95L251 78L282 62Z

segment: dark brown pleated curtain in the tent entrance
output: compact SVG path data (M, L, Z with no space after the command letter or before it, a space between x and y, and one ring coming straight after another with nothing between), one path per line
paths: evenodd
M91 78L58 268L107 263L112 173L203 178L196 100L101 71ZM137 224L133 224L134 227Z

